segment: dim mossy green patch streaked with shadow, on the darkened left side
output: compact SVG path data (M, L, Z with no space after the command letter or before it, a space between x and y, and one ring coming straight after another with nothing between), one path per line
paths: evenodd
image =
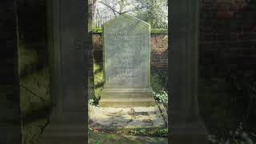
M50 76L46 47L18 44L18 72L23 143L36 144L50 110Z

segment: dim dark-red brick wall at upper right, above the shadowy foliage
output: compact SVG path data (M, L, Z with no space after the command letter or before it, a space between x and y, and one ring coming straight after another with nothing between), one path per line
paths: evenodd
M255 12L254 1L202 1L200 65L203 75L224 76L227 70L233 69L256 70Z

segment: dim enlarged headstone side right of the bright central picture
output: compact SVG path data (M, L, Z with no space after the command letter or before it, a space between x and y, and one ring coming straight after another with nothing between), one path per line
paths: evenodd
M170 5L170 142L205 144L198 110L198 1Z

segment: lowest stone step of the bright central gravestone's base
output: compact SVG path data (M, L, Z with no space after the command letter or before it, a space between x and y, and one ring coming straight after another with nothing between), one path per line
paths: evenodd
M102 98L100 107L155 106L154 98Z

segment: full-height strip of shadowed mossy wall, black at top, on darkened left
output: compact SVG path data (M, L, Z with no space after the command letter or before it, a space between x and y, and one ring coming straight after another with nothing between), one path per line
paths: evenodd
M38 143L50 114L46 2L18 1L18 71L23 143ZM31 25L33 23L33 25Z

